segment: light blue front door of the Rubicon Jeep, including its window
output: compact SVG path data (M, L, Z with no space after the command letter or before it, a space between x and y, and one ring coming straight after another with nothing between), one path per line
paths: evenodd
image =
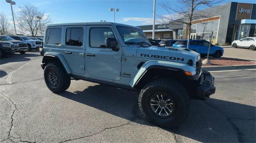
M106 38L116 38L112 25L87 26L86 69L92 78L121 79L122 49L106 48ZM118 39L116 39L118 41Z

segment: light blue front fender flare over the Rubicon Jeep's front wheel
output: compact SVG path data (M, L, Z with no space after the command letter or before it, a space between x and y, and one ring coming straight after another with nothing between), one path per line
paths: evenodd
M161 69L168 69L172 71L180 71L180 72L185 72L185 71L195 71L196 69L192 66L189 66L186 63L177 63L177 62L171 62L171 61L147 61L144 63L140 69L134 74L132 79L130 80L129 85L134 88L135 85L140 81L142 76L148 71L149 69L152 68L161 68Z

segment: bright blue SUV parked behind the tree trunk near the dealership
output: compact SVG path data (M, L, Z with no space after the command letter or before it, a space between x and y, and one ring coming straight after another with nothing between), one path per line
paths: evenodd
M199 40L199 39L190 39L190 45L189 49L196 51L197 53L200 53L200 55L206 56L209 48L210 42L206 40ZM179 48L186 48L187 47L188 40L178 40L176 43L174 43L173 47L179 47ZM224 49L219 46L211 45L210 47L210 53L209 55L212 57L221 57L224 53Z

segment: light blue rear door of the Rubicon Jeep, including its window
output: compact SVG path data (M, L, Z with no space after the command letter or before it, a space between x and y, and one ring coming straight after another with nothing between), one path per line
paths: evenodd
M65 26L63 53L72 74L84 74L86 26Z

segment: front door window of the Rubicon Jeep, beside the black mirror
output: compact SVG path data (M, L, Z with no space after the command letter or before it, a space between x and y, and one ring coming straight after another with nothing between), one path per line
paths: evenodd
M91 28L90 46L96 48L106 48L106 38L115 38L110 28Z

